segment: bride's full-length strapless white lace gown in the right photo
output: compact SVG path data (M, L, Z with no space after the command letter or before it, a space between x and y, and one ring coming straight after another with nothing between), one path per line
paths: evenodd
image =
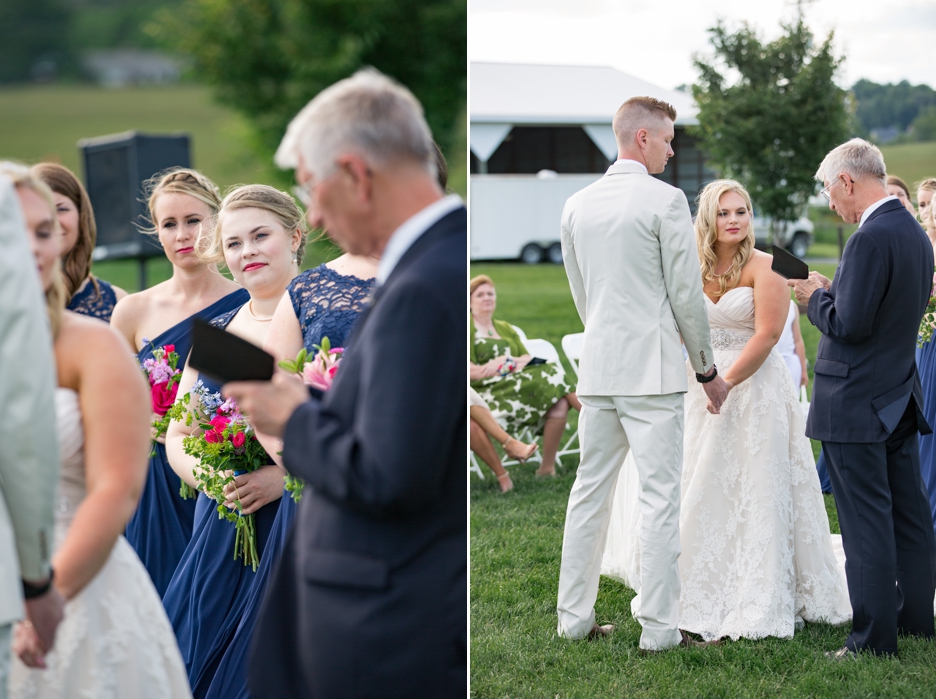
M737 287L706 307L715 364L724 375L754 334L754 290ZM771 350L731 391L720 415L706 411L705 392L688 363L687 371L679 628L706 640L790 638L803 621L847 621L844 569L833 553L805 418L783 359ZM637 470L628 455L601 572L639 596L637 498Z

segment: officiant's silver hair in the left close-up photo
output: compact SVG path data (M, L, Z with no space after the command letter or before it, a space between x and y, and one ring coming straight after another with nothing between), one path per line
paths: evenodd
M374 68L340 80L303 107L286 129L275 160L283 169L295 169L301 156L306 169L322 180L343 153L355 153L375 167L414 162L436 176L422 105Z

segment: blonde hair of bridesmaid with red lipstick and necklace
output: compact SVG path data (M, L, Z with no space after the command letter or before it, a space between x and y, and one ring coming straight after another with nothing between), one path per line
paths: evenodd
M196 252L200 259L209 263L224 264L224 248L221 244L224 218L226 214L238 209L268 211L276 217L287 235L291 236L293 231L298 230L301 235L295 255L296 263L302 264L308 232L305 216L291 196L265 184L239 185L228 191L221 202L221 208L214 218L214 225L211 228L210 235L199 240Z

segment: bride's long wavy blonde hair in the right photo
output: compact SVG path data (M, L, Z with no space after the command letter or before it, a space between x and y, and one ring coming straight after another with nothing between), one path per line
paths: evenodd
M731 268L727 274L715 276L715 266L718 258L715 256L715 243L718 240L718 211L721 209L719 200L723 194L737 192L744 199L748 212L753 217L751 195L734 180L715 180L709 182L697 200L698 213L695 220L696 246L699 250L699 269L702 272L702 284L718 281L718 291L715 296L723 296L729 290L738 286L741 281L741 270L754 254L754 222L748 224L748 232L738 246L737 252L731 260Z

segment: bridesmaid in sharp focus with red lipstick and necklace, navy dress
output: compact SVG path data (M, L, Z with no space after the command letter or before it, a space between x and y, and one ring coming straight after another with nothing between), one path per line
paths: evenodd
M257 345L263 345L273 314L289 282L299 271L305 242L305 222L289 195L265 185L239 187L225 197L218 215L208 259L223 260L234 278L250 293L240 308L212 320ZM182 396L202 383L212 392L217 384L198 377L186 367L179 383ZM185 454L183 440L198 430L197 423L186 426L173 421L166 435L166 449L175 472L197 487L194 457ZM254 514L260 566L250 566L234 557L235 528L218 518L217 504L199 493L192 539L176 569L163 603L182 650L192 692L205 697L217 676L222 658L241 637L249 638L252 626L245 624L248 598L257 579L266 575L269 536L281 506L285 472L270 465L238 476L236 493L228 487L228 507L239 498L243 512ZM246 664L246 656L240 659ZM240 687L225 696L246 692L246 676Z

